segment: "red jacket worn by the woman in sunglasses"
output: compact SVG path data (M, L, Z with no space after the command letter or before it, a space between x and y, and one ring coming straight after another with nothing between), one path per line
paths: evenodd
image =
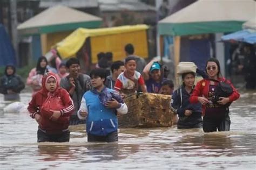
M218 81L225 81L226 83L230 84L230 86L233 88L233 93L228 97L230 99L230 102L233 102L239 98L239 93L237 89L234 88L233 84L226 80L225 78L218 78ZM218 84L218 82L214 82L215 85ZM192 95L190 96L190 103L198 103L198 97L204 96L205 98L208 98L210 88L210 80L203 79L197 83L197 86L194 88ZM203 116L205 115L206 106L202 105L203 109Z

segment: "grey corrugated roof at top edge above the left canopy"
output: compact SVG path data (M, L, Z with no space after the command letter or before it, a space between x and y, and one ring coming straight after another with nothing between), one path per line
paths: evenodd
M98 1L95 0L41 0L39 8L49 8L55 5L64 5L71 8L95 8L98 6Z

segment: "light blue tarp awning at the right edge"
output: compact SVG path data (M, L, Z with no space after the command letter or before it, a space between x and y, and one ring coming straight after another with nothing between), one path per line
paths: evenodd
M247 42L250 44L256 44L256 31L241 30L238 32L234 32L234 33L222 36L221 40L223 41L235 40L235 41Z

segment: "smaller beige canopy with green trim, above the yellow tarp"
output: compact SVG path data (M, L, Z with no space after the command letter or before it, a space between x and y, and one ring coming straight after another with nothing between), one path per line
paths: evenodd
M26 20L17 29L21 34L42 34L75 30L78 27L97 28L100 24L102 19L99 17L58 5Z

